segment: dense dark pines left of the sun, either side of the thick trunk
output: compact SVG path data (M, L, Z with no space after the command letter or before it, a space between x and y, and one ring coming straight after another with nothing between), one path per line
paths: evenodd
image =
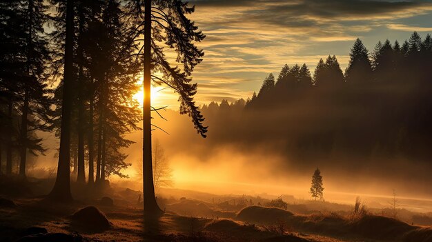
M1 6L1 150L6 150L6 174L14 153L19 174L26 177L28 152L46 151L37 131L61 132L66 5L63 1L12 1ZM48 14L49 8L56 8ZM128 43L130 23L122 18L119 1L78 1L72 23L72 101L70 154L76 181L98 182L121 174L128 166L119 152L132 141L124 134L138 130L138 48ZM46 26L51 31L46 30ZM121 61L119 61L121 59ZM97 144L97 145L94 145ZM3 158L3 156L0 156ZM96 159L96 160L95 160ZM94 162L96 165L94 166ZM88 163L88 171L85 171ZM94 175L96 170L96 175Z

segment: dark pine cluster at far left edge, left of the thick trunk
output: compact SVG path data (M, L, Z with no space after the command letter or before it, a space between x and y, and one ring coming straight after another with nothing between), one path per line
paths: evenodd
M3 2L1 3L3 4ZM12 137L19 148L19 174L26 177L27 152L43 153L41 139L34 130L49 130L50 99L46 85L46 61L49 60L48 41L43 25L48 19L44 1L13 1L1 6L0 18L7 23L1 25L0 90L5 94L3 102L8 103L8 148L6 152L7 173L11 173ZM19 110L19 111L18 111ZM14 125L12 113L20 113L20 120ZM19 132L17 131L19 130Z

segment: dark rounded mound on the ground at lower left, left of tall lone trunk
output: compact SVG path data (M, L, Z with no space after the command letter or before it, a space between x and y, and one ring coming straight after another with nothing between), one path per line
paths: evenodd
M106 216L93 206L78 210L70 216L72 227L87 231L103 231L111 227Z

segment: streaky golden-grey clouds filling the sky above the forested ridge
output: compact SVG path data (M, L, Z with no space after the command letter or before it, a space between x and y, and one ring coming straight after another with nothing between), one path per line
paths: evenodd
M192 0L190 5L196 6L190 18L207 36L197 45L206 53L193 74L197 103L249 95L284 63L306 63L313 72L321 57L335 54L344 69L357 37L371 50L379 40L432 30L409 25L410 18L432 12L429 1Z

